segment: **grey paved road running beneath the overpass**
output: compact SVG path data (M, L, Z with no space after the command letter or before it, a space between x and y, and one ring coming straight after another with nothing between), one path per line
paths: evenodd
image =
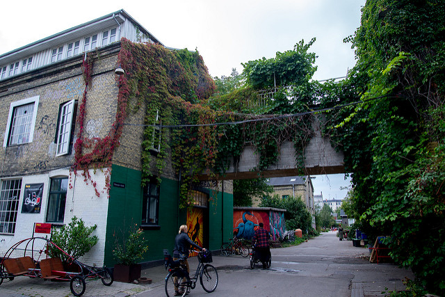
M385 287L401 290L405 277L414 278L394 264L370 263L367 249L339 241L335 232L271 252L272 265L266 270L261 266L250 269L248 258L241 256L213 256L219 276L216 291L209 295L198 283L189 296L382 296ZM189 261L193 271L196 258ZM166 274L163 266L157 266L143 271L142 276L151 278L152 284L87 284L84 296L165 296ZM70 286L21 277L1 284L0 296L70 296Z

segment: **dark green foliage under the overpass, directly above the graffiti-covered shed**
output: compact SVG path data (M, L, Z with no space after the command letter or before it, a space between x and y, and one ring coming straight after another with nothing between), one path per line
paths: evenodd
M273 193L273 186L266 183L266 179L235 179L234 180L234 206L251 207L252 198Z

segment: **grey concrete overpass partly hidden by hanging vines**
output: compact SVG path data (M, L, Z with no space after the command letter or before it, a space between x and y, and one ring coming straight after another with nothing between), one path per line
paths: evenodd
M321 136L320 123L317 118L312 123L312 127L314 127L315 136L309 141L304 152L296 152L293 143L286 141L280 146L280 156L277 162L266 170L258 172L253 168L258 166L259 154L252 145L249 145L244 148L238 162L234 163L232 160L225 175L218 177L218 179L254 179L259 176L284 177L345 173L343 152L336 152L330 143L330 139ZM302 172L299 171L296 162L296 156L299 154L302 154L305 159L305 168Z

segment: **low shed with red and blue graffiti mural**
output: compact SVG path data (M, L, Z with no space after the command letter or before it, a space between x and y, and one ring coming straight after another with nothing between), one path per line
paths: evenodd
M234 207L234 236L252 239L259 223L263 223L271 238L280 240L286 232L284 212L286 209L273 207Z

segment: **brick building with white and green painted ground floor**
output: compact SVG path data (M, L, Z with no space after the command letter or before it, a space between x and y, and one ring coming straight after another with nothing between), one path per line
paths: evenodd
M76 118L86 90L83 61L95 53L81 135L106 138L118 109L121 38L161 44L118 10L0 55L0 253L31 237L34 223L58 227L73 216L97 225L99 243L82 260L99 266L115 263L113 234L133 225L148 239L143 262L161 259L163 248L172 249L179 225L192 227L195 219L207 248L218 249L223 237L232 235L231 182L220 183L210 201L209 186L198 186L196 207L189 211L179 209L179 181L171 162L161 184L141 186L143 109L127 116L125 124L136 125L124 125L111 167L89 170L90 179L72 171L80 129Z

